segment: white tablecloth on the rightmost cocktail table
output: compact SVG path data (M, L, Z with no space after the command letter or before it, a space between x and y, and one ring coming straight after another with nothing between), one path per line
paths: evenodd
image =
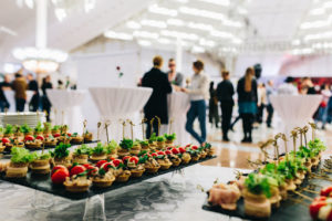
M312 116L322 102L322 96L272 95L270 99L274 110L282 119L282 131L286 133L286 135L289 137L290 131L294 127L303 127L304 125L308 125L309 122L313 122ZM288 147L293 147L291 141L289 141ZM284 151L283 145L281 150Z

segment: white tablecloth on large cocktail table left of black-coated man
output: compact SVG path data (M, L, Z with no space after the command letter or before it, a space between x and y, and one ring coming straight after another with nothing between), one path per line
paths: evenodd
M102 122L111 122L108 137L120 141L122 139L122 124L120 119L131 119L136 125L134 137L142 139L139 110L148 101L153 90L146 87L91 87L89 88L101 115ZM104 129L103 129L104 131ZM126 137L131 137L131 127L126 126ZM101 139L106 140L101 133Z

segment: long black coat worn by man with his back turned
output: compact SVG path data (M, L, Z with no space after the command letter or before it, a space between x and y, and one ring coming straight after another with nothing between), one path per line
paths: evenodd
M153 67L144 74L142 86L153 88L153 93L144 107L145 117L151 120L158 116L162 124L168 124L167 94L172 93L172 86L167 74Z

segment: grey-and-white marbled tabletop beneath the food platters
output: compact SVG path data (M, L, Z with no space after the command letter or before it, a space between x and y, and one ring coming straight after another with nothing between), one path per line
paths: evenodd
M201 209L206 193L197 189L211 187L216 178L227 182L235 178L235 169L196 165L183 175L164 175L105 194L107 220L240 220ZM243 171L246 172L246 171ZM53 206L34 208L31 199L37 191L0 181L0 220L82 220L84 201L52 197ZM86 209L86 208L85 208ZM95 208L98 209L98 208ZM91 219L96 220L96 219Z

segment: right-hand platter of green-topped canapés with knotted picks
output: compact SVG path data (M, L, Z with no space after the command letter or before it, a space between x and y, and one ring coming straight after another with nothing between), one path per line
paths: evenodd
M282 135L278 134L268 140L276 147L274 157L266 156L266 160L251 173L239 175L228 183L215 183L208 191L204 209L242 219L310 220L311 215L313 220L331 221L332 188L329 186L332 179L331 171L326 169L331 167L332 160L325 159L321 164L322 151L326 147L314 137L314 133L307 143L307 126L292 131L294 149L286 151L283 156L278 150L278 139ZM284 136L283 139L287 140ZM318 190L324 186L328 187L319 196ZM308 200L313 198L309 212Z

